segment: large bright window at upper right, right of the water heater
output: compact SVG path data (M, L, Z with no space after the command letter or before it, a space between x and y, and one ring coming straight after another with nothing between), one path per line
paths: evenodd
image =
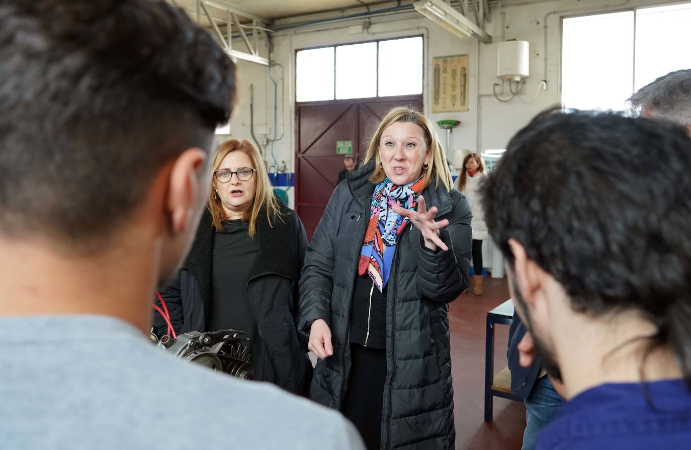
M564 19L562 104L626 109L625 100L657 77L691 68L684 50L691 3Z

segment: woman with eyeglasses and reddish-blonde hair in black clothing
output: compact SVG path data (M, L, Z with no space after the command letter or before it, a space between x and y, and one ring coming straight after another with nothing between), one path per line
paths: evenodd
M240 330L251 338L253 379L306 394L312 366L296 331L307 238L273 194L259 152L226 140L214 156L208 209L180 276L160 292L178 333ZM159 335L167 324L155 316Z

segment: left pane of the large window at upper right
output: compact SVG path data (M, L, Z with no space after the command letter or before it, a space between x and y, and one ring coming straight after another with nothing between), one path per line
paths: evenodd
M626 108L634 76L634 13L564 19L562 104L577 109Z

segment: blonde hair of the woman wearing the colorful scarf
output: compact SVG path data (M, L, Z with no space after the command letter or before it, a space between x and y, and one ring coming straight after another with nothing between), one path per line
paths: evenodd
M386 178L384 169L379 167L379 141L384 130L396 122L413 123L422 128L427 151L429 152L429 165L425 169L424 187L428 187L432 180L435 180L436 187L439 187L439 182L441 182L446 187L446 190L451 192L453 189L453 178L451 178L451 171L449 171L448 164L446 163L444 149L442 149L442 144L439 142L439 135L437 135L432 122L422 113L413 109L412 106L394 106L381 119L377 131L370 139L363 162L363 164L367 164L372 160L375 161L375 171L370 176L370 182L379 183Z

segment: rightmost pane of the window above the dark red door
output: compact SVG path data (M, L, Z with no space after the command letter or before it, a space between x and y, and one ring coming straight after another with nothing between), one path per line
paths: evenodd
M379 42L379 96L422 94L422 37Z

